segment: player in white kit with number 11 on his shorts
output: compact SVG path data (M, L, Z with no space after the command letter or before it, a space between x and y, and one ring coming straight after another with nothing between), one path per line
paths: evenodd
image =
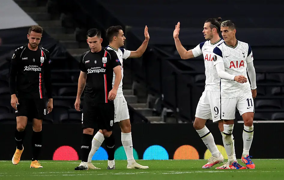
M249 156L253 138L253 115L256 97L256 78L253 66L252 49L249 44L236 39L236 25L227 20L221 24L224 43L214 48L213 62L221 78L221 110L224 120L223 143L228 155L228 162L216 169L254 169L255 164ZM247 73L250 83L247 81ZM231 136L234 128L235 110L243 117L243 155L242 162L237 163L233 156L234 144Z

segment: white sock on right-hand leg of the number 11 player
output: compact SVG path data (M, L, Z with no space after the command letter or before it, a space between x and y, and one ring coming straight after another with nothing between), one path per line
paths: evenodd
M243 157L249 155L249 149L252 145L253 125L251 127L243 125Z

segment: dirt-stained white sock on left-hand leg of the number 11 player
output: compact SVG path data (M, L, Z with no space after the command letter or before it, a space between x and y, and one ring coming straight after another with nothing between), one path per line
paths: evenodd
M237 161L237 159L234 158L234 141L232 137L233 129L234 125L224 124L223 143L228 155L229 164L232 164L234 161Z

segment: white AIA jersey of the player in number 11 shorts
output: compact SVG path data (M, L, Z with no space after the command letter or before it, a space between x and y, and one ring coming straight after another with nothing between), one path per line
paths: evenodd
M214 65L224 62L225 72L232 75L243 75L247 78L247 63L253 61L252 49L249 44L237 41L237 45L232 47L225 42L214 48L216 57L214 57ZM237 98L247 94L251 94L251 86L249 81L239 83L221 79L221 98Z

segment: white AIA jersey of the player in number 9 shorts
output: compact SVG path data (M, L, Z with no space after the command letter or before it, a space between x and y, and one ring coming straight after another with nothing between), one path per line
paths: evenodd
M222 42L224 42L224 40L222 40L221 38L213 44L210 42L210 40L204 41L198 44L194 49L192 49L194 57L203 54L206 76L206 91L220 91L220 78L213 64L213 49Z

